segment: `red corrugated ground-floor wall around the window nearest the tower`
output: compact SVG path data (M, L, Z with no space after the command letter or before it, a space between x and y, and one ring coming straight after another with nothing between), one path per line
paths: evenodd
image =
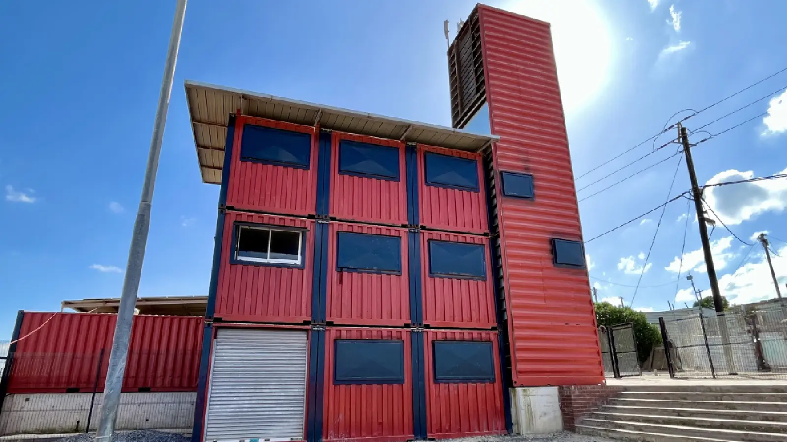
M449 437L503 434L503 386L497 332L427 330L427 435ZM437 384L434 382L433 341L491 341L495 359L494 383Z

